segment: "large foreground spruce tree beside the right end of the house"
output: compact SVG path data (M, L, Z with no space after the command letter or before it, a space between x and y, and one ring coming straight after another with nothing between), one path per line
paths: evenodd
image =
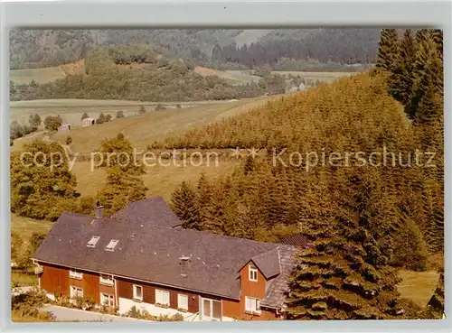
M341 186L334 180L339 189L322 193L330 203L328 214L306 229L314 245L302 250L290 279L288 311L294 319L391 318L397 278L383 244L393 230L392 214L391 207L378 211L382 205L373 203L381 188L372 177L334 174L346 181Z

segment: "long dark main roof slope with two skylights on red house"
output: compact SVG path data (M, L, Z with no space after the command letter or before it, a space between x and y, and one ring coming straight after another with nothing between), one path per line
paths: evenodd
M63 213L34 254L34 259L232 299L240 297L238 272L250 258L258 258L259 265L271 274L276 271L276 266L267 266L261 259L275 258L277 247L282 248L281 270L283 273L287 270L287 245L160 227L155 226L152 218L145 219L95 219ZM91 224L93 220L95 223ZM100 236L94 248L87 246L91 236ZM119 242L115 251L108 252L105 246L111 239ZM183 255L191 257L187 276L180 272L179 258ZM271 282L268 295L263 300L266 304L279 302L284 297L278 295L285 288L280 275Z

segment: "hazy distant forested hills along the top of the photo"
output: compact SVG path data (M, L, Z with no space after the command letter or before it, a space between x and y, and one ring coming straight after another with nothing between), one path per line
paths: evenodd
M217 69L269 64L278 70L350 71L347 64L374 62L378 39L378 29L13 30L10 66L58 66L99 47L135 43Z

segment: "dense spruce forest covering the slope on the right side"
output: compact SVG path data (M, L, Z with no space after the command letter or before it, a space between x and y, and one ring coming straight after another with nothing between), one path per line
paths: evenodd
M426 309L395 288L398 269L426 270L444 252L442 49L439 30L383 29L368 73L153 143L259 149L229 176L182 182L174 211L185 227L221 235L308 236L314 246L290 276L292 319L442 318L443 274ZM379 167L289 162L293 152L383 149L392 160ZM433 165L415 164L417 150L435 153Z

